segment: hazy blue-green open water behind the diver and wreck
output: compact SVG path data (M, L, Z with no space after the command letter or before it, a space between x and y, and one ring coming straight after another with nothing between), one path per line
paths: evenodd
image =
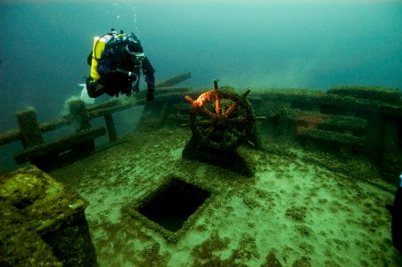
M402 2L332 2L3 1L0 132L29 106L39 121L59 117L89 74L93 37L111 28L140 37L157 80L191 71L192 87L402 88Z

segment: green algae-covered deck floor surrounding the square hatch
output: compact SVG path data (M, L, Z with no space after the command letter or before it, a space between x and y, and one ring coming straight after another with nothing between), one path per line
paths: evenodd
M394 188L361 158L282 146L239 148L253 177L182 158L186 128L137 131L119 145L53 171L89 201L101 266L398 266L390 237ZM135 215L177 177L210 197L180 231ZM396 189L395 189L396 190Z

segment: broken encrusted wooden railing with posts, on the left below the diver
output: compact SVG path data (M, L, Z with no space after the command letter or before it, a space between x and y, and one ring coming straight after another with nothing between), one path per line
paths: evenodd
M172 86L190 77L190 72L186 72L158 83L156 96L163 97L169 93L189 90L187 87ZM94 139L97 137L108 134L109 142L118 141L112 114L146 104L145 93L146 91L143 91L129 98L111 99L90 107L86 107L84 101L79 99L71 100L68 101L69 115L43 123L37 121L35 109L18 111L16 118L19 129L0 134L0 146L10 142L21 142L24 150L14 154L15 162L23 164L30 161L37 166L47 166L54 162L54 158L65 153L86 155L94 150ZM95 117L103 117L105 126L92 127L90 121ZM74 127L74 134L63 136L53 142L45 142L43 134L69 125Z

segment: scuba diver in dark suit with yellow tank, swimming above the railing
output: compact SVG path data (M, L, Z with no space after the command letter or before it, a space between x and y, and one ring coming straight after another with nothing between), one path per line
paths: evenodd
M127 35L120 30L118 34L111 28L111 33L94 37L93 51L88 55L87 62L91 66L91 76L86 78L86 85L83 85L82 100L86 101L83 99L83 94L86 93L86 98L96 98L103 93L116 97L119 93L127 96L133 91L138 93L140 70L143 71L147 83L146 98L148 101L153 100L155 70L134 33ZM94 100L89 102L94 103Z

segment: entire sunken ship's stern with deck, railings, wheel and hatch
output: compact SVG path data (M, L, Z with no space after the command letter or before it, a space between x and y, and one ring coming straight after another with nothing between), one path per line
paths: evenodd
M62 206L53 203L52 214L37 216L27 226L33 230L32 240L42 242L49 263L56 265L70 264L70 254L90 255L89 265L96 264L97 255L104 266L164 266L182 263L187 260L184 254L193 265L341 265L348 263L341 254L350 247L360 253L353 263L367 265L372 251L390 245L388 211L375 203L389 200L389 189L402 169L400 90L359 85L328 90L176 86L188 77L185 73L160 83L151 102L144 93L89 107L74 100L69 115L48 122L38 122L34 109L17 112L19 129L0 134L0 145L21 142L23 150L15 151L15 162L48 170L61 183L33 166L1 176L0 200L7 205L6 213L14 214L8 221L0 217L0 233L20 225L23 214L37 216L36 207L44 199L57 198ZM144 111L135 132L119 138L113 113L139 105ZM91 120L96 117L103 117L104 125L94 127ZM44 133L66 126L72 134L45 142ZM101 150L94 141L103 135L108 143ZM366 165L350 166L362 162ZM385 190L358 185L362 176L364 184ZM17 183L21 177L31 179L42 190L20 190L26 193L14 198L10 192L18 190L11 186L18 184L12 177ZM292 183L296 179L307 182ZM328 180L336 181L328 185ZM62 182L90 205L64 189ZM60 192L50 194L51 185L66 190L64 198ZM361 206L350 206L357 202ZM315 212L336 222L326 229L327 218L311 215ZM360 212L373 216L353 217ZM333 227L336 223L339 229ZM77 240L91 248L88 226L95 233L94 249L64 251L62 242L71 229L84 233L86 239ZM373 231L381 237L374 248L362 241ZM275 248L283 233L294 243ZM271 247L265 235L274 240ZM370 263L400 263L390 248L386 250L381 260L373 253Z

